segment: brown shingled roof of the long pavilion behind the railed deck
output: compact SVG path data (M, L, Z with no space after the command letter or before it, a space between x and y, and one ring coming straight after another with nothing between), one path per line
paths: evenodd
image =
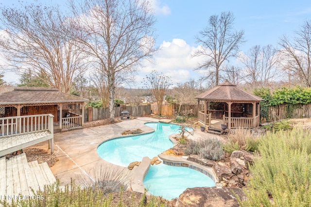
M72 103L88 101L86 98L59 92L55 88L17 87L0 95L0 105Z

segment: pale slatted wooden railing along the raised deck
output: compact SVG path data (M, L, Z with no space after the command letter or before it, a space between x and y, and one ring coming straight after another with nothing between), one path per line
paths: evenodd
M40 114L0 118L0 137L49 130L53 133L53 115Z

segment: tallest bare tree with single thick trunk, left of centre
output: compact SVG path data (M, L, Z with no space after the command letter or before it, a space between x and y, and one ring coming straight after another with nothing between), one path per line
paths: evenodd
M81 32L78 41L107 78L109 119L113 121L116 82L134 73L155 51L151 7L141 0L71 0L71 7L73 23Z

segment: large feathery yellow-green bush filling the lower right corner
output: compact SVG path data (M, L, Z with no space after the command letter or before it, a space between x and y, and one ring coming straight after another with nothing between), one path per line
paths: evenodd
M250 166L242 207L311 206L311 132L303 128L267 132Z

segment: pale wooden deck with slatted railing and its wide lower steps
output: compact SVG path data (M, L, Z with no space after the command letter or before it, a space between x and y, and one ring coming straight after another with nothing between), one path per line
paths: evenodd
M31 196L31 191L56 181L48 164L27 162L22 153L10 159L5 155L48 141L53 153L53 116L41 114L0 118L0 199L16 200L18 195ZM12 197L13 196L13 197ZM14 197L16 196L16 197Z

